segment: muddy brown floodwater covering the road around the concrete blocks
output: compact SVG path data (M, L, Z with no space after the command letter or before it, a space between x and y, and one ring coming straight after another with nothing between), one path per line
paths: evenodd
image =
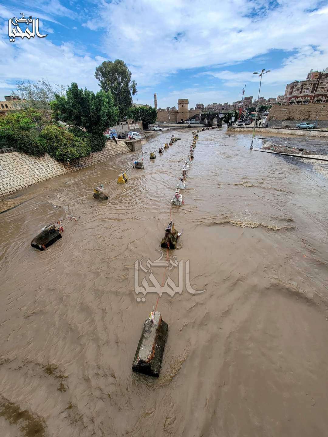
M1 437L327 435L328 167L250 151L250 135L199 133L169 261L190 260L206 291L163 293L160 378L132 373L157 299L137 302L134 263L159 257L192 142L179 131L150 162L170 136L32 187L0 215ZM100 183L109 200L90 208ZM81 218L62 239L30 246L72 208ZM151 267L159 283L164 268ZM168 273L176 282L178 267Z

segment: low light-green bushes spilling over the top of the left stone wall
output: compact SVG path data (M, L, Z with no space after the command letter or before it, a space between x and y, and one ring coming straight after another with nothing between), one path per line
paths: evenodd
M105 147L105 135L91 134L80 128L64 130L57 125L37 128L38 118L40 114L33 110L16 111L1 118L1 145L36 157L48 153L63 162L90 155Z

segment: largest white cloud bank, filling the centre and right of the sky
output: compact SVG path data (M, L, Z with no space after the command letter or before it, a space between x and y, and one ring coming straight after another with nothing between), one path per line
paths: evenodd
M93 30L105 27L102 50L110 59L124 59L137 82L147 85L180 69L228 65L271 49L296 49L302 57L309 45L319 45L321 65L327 53L326 9L309 14L305 0L285 1L276 9L269 0L230 0L201 12L198 0L167 0L164 9L150 0L102 1L97 18L84 25ZM260 15L251 16L255 11ZM291 73L291 68L280 71L284 72ZM296 77L303 75L302 71Z

